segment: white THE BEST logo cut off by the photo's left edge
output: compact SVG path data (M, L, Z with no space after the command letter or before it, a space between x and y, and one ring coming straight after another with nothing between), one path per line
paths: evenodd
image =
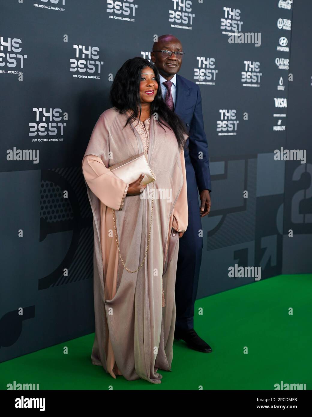
M19 38L8 38L8 41L5 41L3 36L0 37L0 67L15 68L18 65L19 68L24 68L27 55L20 53L21 44Z

